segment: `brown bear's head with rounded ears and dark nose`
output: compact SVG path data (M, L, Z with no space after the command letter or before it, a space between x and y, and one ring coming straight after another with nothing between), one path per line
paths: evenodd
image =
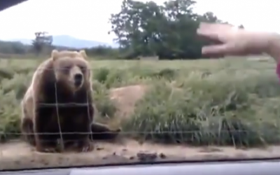
M90 65L85 50L52 50L52 65L57 82L63 83L73 92L84 85L91 85Z

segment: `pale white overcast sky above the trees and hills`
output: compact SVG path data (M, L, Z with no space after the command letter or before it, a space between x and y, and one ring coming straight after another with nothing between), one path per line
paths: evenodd
M145 0L139 0L145 1ZM162 3L165 0L154 0ZM112 43L109 18L122 0L29 0L0 12L0 40L34 38L36 31L51 35ZM278 8L277 8L278 7ZM280 33L276 0L197 0L197 13L212 11L221 20L246 29Z

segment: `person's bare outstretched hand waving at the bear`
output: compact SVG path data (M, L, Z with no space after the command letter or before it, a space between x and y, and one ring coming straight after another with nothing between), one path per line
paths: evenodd
M269 33L246 31L231 25L205 22L200 24L197 34L221 42L218 45L207 45L202 48L202 55L216 57L261 54L267 50L272 38Z

